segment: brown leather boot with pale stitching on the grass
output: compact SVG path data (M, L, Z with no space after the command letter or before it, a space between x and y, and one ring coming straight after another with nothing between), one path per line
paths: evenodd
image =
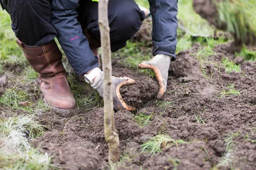
M28 46L20 39L26 58L41 79L40 88L43 99L51 107L60 110L70 110L76 107L74 96L67 81L67 74L62 65L62 54L53 40L43 46Z

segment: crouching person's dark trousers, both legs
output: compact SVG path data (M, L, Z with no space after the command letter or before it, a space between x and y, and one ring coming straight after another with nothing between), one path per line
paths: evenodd
M145 19L144 12L138 10L134 0L125 0L125 3L120 1L122 0L109 0L108 4L112 51L124 47ZM57 36L57 31L51 23L50 0L8 0L7 3L4 6L7 6L7 11L11 15L12 28L25 44L44 45ZM97 2L80 0L79 3L77 19L82 29L86 29L91 37L100 43ZM138 17L140 19L134 19Z

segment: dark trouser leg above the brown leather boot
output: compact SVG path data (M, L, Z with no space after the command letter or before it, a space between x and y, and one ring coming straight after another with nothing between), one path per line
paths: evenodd
M7 7L13 31L26 45L45 45L57 36L48 0L9 0Z

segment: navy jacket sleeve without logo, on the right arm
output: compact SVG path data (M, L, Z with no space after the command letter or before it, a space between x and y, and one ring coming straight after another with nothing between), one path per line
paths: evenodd
M153 55L172 55L176 59L178 0L149 0L153 20Z

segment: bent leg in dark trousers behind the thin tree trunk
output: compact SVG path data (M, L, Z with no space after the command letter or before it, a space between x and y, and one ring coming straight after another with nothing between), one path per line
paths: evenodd
M92 48L93 46L100 46L98 3L91 0L80 0L80 6L77 11L78 21L81 23L82 28L86 30L90 46ZM144 11L140 9L134 0L109 0L108 20L112 52L124 47L126 41L134 37L145 17ZM94 45L91 43L94 43Z

